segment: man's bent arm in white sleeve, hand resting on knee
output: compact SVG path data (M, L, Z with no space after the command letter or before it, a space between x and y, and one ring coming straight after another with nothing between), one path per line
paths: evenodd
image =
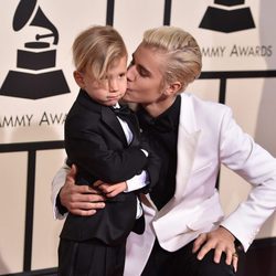
M220 134L222 163L250 182L252 190L247 199L220 223L219 229L199 235L193 252L202 259L213 248L216 263L225 252L226 263L232 259L232 264L236 265L235 243L241 242L246 252L262 224L276 210L276 160L241 129L231 109L224 115Z

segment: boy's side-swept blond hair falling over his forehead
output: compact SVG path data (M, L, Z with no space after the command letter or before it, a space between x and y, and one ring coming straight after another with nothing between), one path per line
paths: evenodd
M73 43L76 71L88 73L99 81L109 66L127 56L121 35L110 25L94 25L81 32Z

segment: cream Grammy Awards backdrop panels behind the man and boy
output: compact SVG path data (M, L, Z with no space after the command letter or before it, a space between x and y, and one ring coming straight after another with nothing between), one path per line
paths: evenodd
M103 0L39 0L24 18L23 26L14 31L13 20L19 3L25 1L0 1L0 145L63 140L63 123L68 108L77 95L72 73L71 46L76 34L92 24L106 23L107 1ZM28 1L26 1L28 2ZM35 1L32 1L35 2ZM236 14L241 9L250 11L255 28L222 32L199 28L200 22L212 7L227 14ZM49 46L28 49L25 43L35 42L35 35L49 33L47 29L35 25L38 9L59 32L59 42L45 38ZM129 54L141 40L146 29L163 23L164 1L161 0L117 0L114 9L114 26L123 34ZM173 0L171 24L190 31L203 52L203 71L272 71L276 70L276 35L274 26L276 2L274 0L252 0L234 7L214 4L214 1ZM231 13L233 11L233 13ZM222 13L225 14L225 13ZM227 20L226 20L227 21ZM224 20L213 22L220 28ZM230 24L231 22L229 22ZM242 24L242 23L241 23ZM18 66L18 51L55 51L54 66L32 70ZM36 59L36 57L35 57ZM34 59L34 60L35 60ZM7 95L3 83L9 72L34 78L43 73L60 71L65 77L68 91L57 91L55 95L30 99L21 93ZM10 84L12 85L12 84ZM22 84L23 86L23 84ZM276 156L276 128L270 121L276 117L276 76L257 78L231 78L226 83L226 104L236 120L257 142ZM32 92L43 89L33 85ZM189 88L205 99L217 100L220 79L199 79ZM63 149L40 150L35 162L35 193L33 216L33 243L31 269L56 266L56 247L62 222L53 220L50 203L51 181L61 167L65 155ZM0 275L23 270L24 219L26 197L28 153L0 151ZM221 199L229 213L246 197L250 187L226 169L221 173ZM231 194L231 197L230 197ZM261 230L258 237L276 236L276 219L270 217Z

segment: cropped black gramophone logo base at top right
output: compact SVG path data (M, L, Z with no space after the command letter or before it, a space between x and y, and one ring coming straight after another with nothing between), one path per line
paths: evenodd
M231 33L255 28L248 7L244 0L214 0L215 7L208 7L200 28Z

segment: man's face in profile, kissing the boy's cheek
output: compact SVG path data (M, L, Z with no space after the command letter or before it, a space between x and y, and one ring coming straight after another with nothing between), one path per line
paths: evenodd
M158 103L163 87L162 53L138 46L127 71L127 92L124 100L142 105Z

